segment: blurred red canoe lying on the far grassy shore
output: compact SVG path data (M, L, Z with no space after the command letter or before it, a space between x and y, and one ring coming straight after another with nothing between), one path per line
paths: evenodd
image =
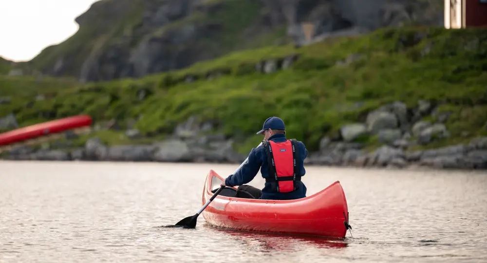
M34 124L22 127L13 131L7 131L0 134L0 145L8 145L21 141L34 139L51 133L67 131L71 129L90 126L92 118L89 115L77 115Z

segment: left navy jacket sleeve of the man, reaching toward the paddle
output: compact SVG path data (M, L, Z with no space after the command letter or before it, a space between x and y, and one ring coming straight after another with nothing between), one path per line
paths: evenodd
M262 161L256 156L256 149L252 149L248 154L248 159L241 169L225 179L225 185L229 187L241 186L254 179L261 168Z

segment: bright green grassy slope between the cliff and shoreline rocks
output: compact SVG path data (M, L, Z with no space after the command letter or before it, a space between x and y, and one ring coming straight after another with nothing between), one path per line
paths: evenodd
M272 74L256 72L256 62L298 55L293 65ZM352 56L351 56L352 55ZM348 62L347 62L348 60ZM208 80L212 74L215 78ZM187 83L188 77L195 81ZM395 100L408 107L419 99L442 104L452 114L449 139L433 146L487 135L487 30L442 28L382 29L355 38L336 38L295 49L270 47L233 53L216 60L143 79L78 85L69 80L1 77L13 94L0 116L13 112L19 124L88 113L95 121L137 119L147 136L171 133L189 116L213 120L217 130L240 138L245 152L262 139L262 122L278 115L289 137L318 148L324 135ZM50 82L48 82L50 81ZM20 85L24 88L19 90ZM41 87L44 85L44 88ZM146 97L137 94L144 90ZM33 101L36 94L52 97ZM111 143L117 142L115 136ZM374 145L373 137L361 138Z

